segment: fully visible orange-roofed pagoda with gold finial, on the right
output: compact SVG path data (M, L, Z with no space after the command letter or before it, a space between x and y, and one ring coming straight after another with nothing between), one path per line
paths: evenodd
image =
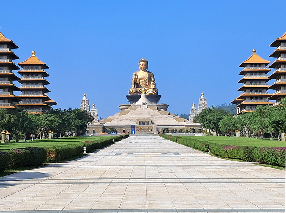
M242 91L239 97L234 99L231 103L237 105L237 114L242 112L254 111L257 105L271 105L267 98L271 96L266 92L268 82L270 79L266 74L271 71L266 66L270 61L262 59L256 54L256 50L252 50L252 55L239 67L243 70L239 75L243 75L238 83L243 85L238 89Z

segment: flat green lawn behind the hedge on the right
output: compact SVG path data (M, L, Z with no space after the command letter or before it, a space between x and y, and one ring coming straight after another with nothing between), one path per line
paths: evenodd
M217 144L227 144L235 146L257 146L257 147L285 147L285 141L271 141L271 140L262 140L256 138L231 138L225 136L181 136L182 138L186 137L195 137L195 139L201 141L208 141L211 143Z

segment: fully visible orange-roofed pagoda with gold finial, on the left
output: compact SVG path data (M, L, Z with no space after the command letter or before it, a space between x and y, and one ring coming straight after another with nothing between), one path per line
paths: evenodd
M36 57L36 52L32 51L32 56L18 65L23 68L18 71L23 76L19 80L23 84L20 87L22 94L18 96L23 101L18 106L30 113L43 113L52 105L56 105L57 103L46 95L50 92L45 86L49 84L45 79L49 74L44 69L49 67Z

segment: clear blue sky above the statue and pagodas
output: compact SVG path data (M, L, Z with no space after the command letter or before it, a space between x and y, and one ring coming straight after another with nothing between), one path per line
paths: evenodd
M168 111L188 114L201 92L209 105L229 103L240 94L240 63L252 49L274 61L269 45L286 31L286 1L14 0L2 7L0 31L19 46L14 63L35 50L50 67L54 108L79 108L86 93L103 118L128 103L142 57Z

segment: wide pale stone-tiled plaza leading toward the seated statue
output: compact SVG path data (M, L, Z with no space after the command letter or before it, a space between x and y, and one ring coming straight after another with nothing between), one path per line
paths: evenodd
M285 171L130 136L0 178L0 212L285 212Z

